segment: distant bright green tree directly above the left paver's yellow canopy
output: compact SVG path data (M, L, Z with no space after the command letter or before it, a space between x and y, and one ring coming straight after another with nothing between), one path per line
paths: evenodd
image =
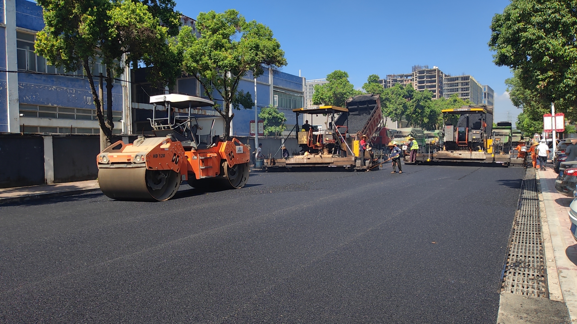
M327 75L327 81L323 85L314 85L313 104L345 107L347 99L362 94L349 82L349 73L345 71L332 71Z

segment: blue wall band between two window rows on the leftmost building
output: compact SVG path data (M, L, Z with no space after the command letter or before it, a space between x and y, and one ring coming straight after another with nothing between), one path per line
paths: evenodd
M106 82L104 84L106 86ZM94 109L92 92L84 78L20 73L18 86L20 103ZM113 110L122 111L122 86L119 84L113 88Z

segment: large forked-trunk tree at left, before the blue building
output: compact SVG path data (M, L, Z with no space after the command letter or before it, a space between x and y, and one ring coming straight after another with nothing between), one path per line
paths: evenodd
M96 118L110 144L112 121L113 77L123 69L121 58L127 62L144 61L166 65L159 52L167 48L167 28L160 26L147 6L140 2L108 0L39 0L43 8L45 27L37 34L35 49L48 63L63 66L66 71L83 69L88 78L96 107ZM92 75L96 58L102 58L107 77L107 118L103 114L103 98L98 96ZM174 66L174 65L173 65ZM170 74L170 73L169 73Z

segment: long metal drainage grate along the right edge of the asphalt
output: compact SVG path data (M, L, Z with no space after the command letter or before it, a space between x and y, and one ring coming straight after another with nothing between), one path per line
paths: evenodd
M519 205L515 212L502 273L502 292L548 297L539 195L534 168L527 168L523 176Z

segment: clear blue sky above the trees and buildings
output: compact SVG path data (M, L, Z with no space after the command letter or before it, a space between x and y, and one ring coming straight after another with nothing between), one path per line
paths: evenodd
M334 70L349 73L360 88L369 74L410 73L413 65L439 66L452 75L471 74L495 92L495 119L513 122L504 81L507 67L492 62L487 42L495 13L509 1L183 1L177 9L198 12L237 9L270 27L286 52L283 71L307 79Z

